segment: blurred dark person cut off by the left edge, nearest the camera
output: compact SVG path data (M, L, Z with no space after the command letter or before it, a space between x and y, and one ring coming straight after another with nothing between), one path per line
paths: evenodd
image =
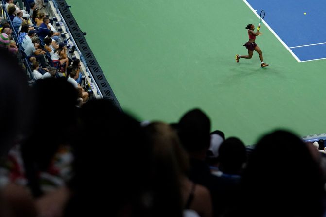
M26 73L19 67L17 58L8 55L7 51L0 52L0 156L1 161L7 156L11 147L17 144L20 135L29 132L33 122L31 109L34 104L32 93L28 87ZM10 72L10 73L9 73ZM17 184L3 185L1 175L0 212L1 217L35 217L34 201L29 192ZM31 213L30 211L33 212Z

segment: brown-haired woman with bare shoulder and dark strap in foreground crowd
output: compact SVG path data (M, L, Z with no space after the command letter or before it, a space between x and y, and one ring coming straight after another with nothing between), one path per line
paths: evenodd
M187 178L189 158L183 150L177 134L164 123L154 122L144 127L153 146L154 165L168 167L170 171L159 170L159 179L176 176L180 182L182 205L185 210L194 210L201 217L212 216L212 204L209 191L206 187L196 184Z

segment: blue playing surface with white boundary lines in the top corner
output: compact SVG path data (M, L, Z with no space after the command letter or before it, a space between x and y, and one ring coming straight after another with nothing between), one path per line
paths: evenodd
M326 59L325 1L243 1L258 17L261 10L265 11L264 24L298 62Z

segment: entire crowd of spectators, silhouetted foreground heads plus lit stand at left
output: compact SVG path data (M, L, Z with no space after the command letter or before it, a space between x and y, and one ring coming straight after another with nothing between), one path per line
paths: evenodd
M277 130L249 151L199 108L175 123L141 122L110 100L90 100L80 60L69 58L48 17L34 17L37 2L27 14L46 33L24 24L21 0L17 43L15 27L1 22L1 217L326 215L324 140Z

